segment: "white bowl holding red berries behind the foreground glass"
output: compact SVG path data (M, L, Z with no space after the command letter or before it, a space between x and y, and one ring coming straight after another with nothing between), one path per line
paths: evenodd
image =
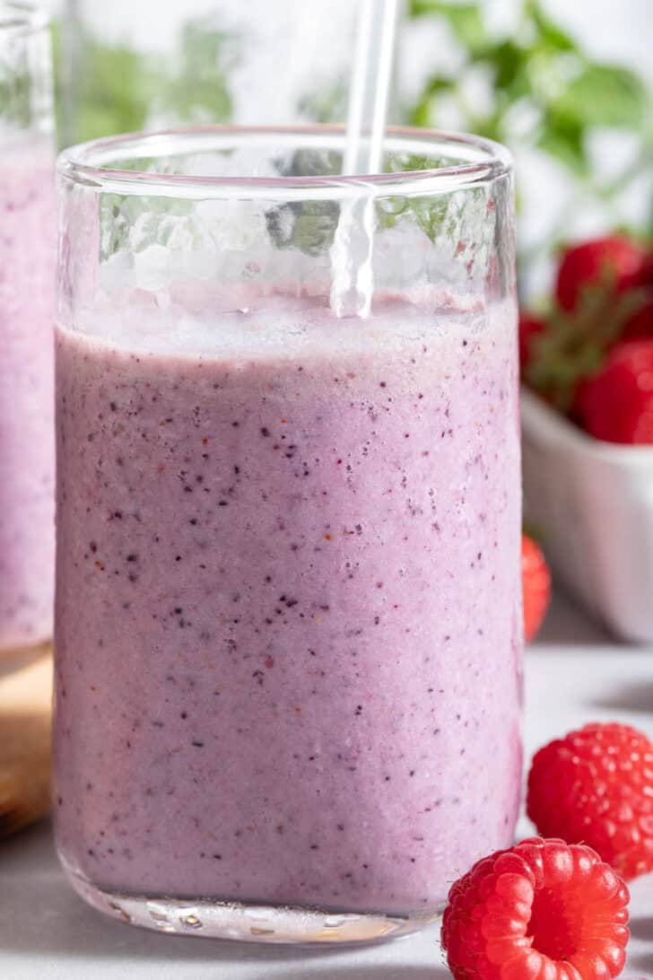
M626 640L653 641L653 446L586 435L522 389L524 504L553 571Z

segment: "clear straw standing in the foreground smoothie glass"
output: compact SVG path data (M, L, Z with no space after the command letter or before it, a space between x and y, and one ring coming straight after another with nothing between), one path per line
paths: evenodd
M395 56L399 0L359 0L356 50L343 173L378 173ZM364 194L343 201L331 246L331 308L337 317L368 317L374 278L374 201Z

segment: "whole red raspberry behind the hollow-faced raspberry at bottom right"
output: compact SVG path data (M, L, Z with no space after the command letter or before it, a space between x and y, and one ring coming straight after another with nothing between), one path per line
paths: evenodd
M528 813L540 834L583 841L625 878L653 870L653 745L590 724L536 753Z

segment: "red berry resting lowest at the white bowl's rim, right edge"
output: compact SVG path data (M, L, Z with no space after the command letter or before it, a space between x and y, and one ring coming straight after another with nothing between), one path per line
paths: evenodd
M616 344L580 386L575 414L596 439L653 443L653 338Z

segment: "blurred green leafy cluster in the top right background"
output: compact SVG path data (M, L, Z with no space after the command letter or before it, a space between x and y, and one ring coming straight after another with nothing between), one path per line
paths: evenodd
M511 145L518 130L520 142L545 150L579 176L591 171L587 137L592 129L641 132L650 148L651 98L638 75L588 58L538 0L524 0L508 37L490 31L483 3L410 0L409 15L443 19L465 58L462 71L435 72L427 79L416 104L407 107L414 125L437 124L447 96L471 131ZM489 79L489 107L480 108L466 96L472 70Z

